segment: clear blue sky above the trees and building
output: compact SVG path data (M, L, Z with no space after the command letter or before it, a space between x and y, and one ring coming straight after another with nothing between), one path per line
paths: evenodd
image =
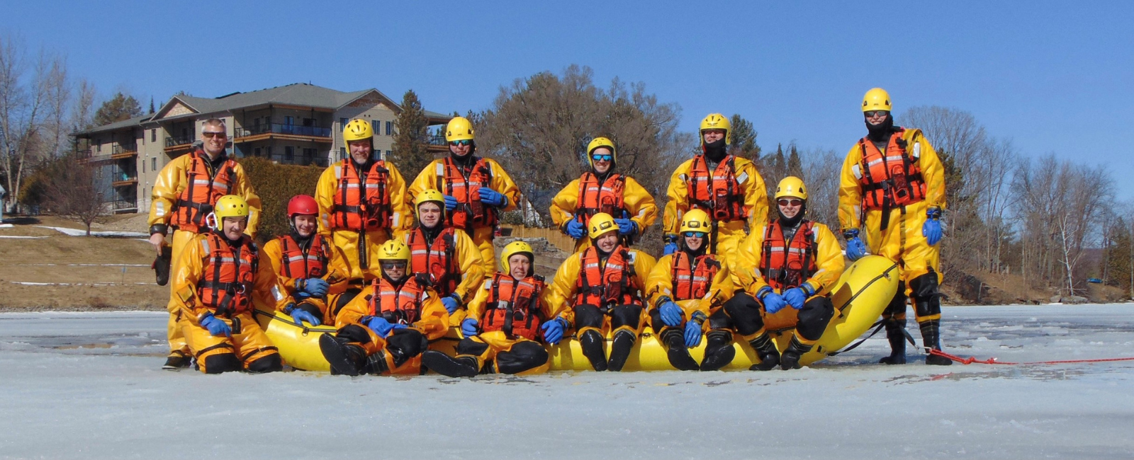
M966 110L1025 155L1106 164L1134 197L1134 2L325 5L0 1L0 34L143 104L311 82L395 100L413 88L430 110L465 112L578 63L600 86L644 82L691 131L741 113L765 150L847 150L862 94L881 86L896 111Z

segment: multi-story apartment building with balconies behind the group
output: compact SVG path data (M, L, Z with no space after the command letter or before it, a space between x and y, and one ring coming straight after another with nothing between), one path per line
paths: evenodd
M346 157L342 127L355 118L370 121L375 155L386 157L393 150L395 120L400 112L378 90L345 93L297 83L215 99L177 95L153 114L74 136L90 161L102 167L100 177L115 212L147 212L158 172L193 148L201 138L201 121L206 119L225 120L229 152L237 157L325 167ZM431 127L451 118L431 111L425 117ZM446 152L445 138L433 136L430 150Z

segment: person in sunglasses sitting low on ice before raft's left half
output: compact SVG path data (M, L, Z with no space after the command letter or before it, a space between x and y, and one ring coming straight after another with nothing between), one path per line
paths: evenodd
M335 317L335 335L319 338L331 374L416 375L429 341L449 330L449 314L429 275L407 274L409 247L386 241L378 258L382 276L342 307Z

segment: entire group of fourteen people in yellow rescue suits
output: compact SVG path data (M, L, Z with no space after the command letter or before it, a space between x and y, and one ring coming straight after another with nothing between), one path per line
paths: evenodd
M863 99L868 135L844 162L839 223L846 257L875 254L899 266L903 283L883 314L891 353L881 363L904 364L908 298L923 346L940 349L945 181L924 135L895 127L890 110L881 88ZM634 248L658 218L653 197L616 172L610 138L591 140L590 170L551 203L576 252L550 282L523 241L503 247L497 270L493 233L519 189L498 162L475 155L469 120L448 123L449 155L408 185L375 160L371 129L359 119L345 126L349 155L327 168L314 197L291 198L291 232L263 248L252 239L260 198L226 155L223 121L205 120L202 148L162 169L150 241L170 246L172 258L166 368L281 369L256 307L301 325L333 324L320 350L346 375L540 373L547 346L569 337L595 370L617 372L646 326L677 369L720 369L738 341L756 351L753 370L792 369L835 314L830 289L845 267L835 233L806 218L797 177L777 185L769 210L755 164L729 154L731 126L719 113L702 120L701 151L670 179L660 259ZM431 349L450 327L463 337L456 353ZM782 355L772 340L781 333L790 334ZM702 341L697 363L689 349Z

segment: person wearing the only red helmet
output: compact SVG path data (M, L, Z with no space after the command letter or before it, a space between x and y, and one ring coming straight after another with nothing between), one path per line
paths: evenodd
M319 204L308 195L296 195L287 204L287 218L291 233L268 241L263 252L280 284L298 301L284 313L301 325L331 322L327 308L330 283L324 278L335 276L328 276L327 271L330 245L318 231Z

